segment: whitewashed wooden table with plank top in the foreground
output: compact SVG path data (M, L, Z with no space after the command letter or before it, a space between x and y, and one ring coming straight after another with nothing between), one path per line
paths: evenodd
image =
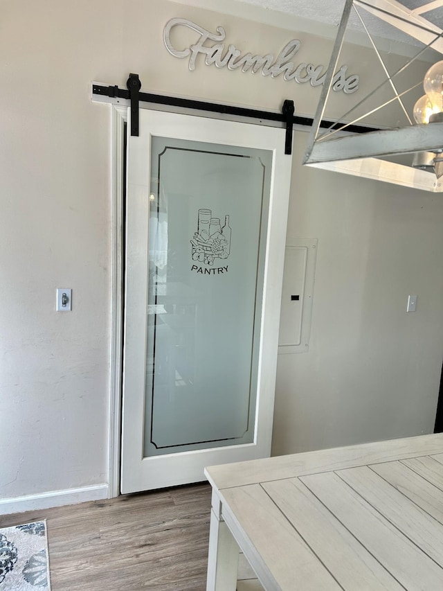
M443 590L443 434L206 468L208 591Z

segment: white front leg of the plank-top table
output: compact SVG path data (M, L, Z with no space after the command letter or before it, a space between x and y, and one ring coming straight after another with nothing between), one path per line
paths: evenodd
M223 518L221 503L213 492L210 512L208 579L206 591L235 591L239 547Z

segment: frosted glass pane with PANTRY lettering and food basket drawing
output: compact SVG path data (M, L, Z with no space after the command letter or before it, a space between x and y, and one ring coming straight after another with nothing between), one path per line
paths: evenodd
M152 137L145 457L254 440L271 164Z

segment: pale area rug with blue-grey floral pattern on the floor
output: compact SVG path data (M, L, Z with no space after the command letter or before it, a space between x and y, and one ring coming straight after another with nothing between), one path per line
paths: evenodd
M0 528L0 591L51 591L46 522Z

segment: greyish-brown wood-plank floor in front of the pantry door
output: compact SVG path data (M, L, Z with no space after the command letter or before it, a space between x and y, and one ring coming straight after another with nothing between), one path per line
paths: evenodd
M47 520L52 591L205 591L210 486L1 515Z

